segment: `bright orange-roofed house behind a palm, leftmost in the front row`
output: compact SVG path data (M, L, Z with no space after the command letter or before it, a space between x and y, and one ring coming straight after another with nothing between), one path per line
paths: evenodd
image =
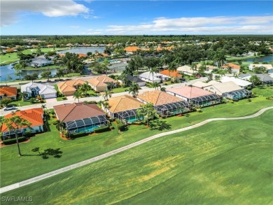
M32 133L43 132L43 108L32 108L25 111L16 111L15 113L10 113L4 118L10 118L13 115L20 116L25 120L31 122L31 129L28 127L19 127L18 135L22 136L27 130L30 130ZM3 124L1 127L1 132L3 135L3 140L15 138L15 132L8 130L8 127Z

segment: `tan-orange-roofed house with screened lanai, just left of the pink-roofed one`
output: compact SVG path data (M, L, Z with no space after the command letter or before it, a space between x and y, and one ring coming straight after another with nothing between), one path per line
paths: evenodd
M144 104L153 104L159 115L175 115L188 112L191 109L187 101L160 90L146 91L137 95L137 99Z

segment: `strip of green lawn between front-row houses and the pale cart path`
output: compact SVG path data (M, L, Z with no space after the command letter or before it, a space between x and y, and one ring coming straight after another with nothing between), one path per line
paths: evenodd
M260 90L262 90L261 92L263 93L267 93L268 96L273 95L269 87ZM244 99L234 104L228 103L202 108L202 113L195 112L190 113L189 117L172 117L165 120L172 125L171 129L179 129L194 125L208 118L250 115L261 108L272 106L272 101L265 100L265 97L264 94L263 97L255 97L251 102ZM36 147L41 148L41 150L46 148L60 148L64 152L63 156L59 159L50 158L48 160L42 160L41 157L18 157L16 145L1 148L1 186L10 185L27 178L44 174L48 171L86 160L134 141L145 139L153 134L160 133L158 130L151 131L144 125L132 125L126 132L123 132L123 134L118 134L117 129L114 129L111 132L92 134L90 136L64 141L59 138L55 127L51 127L51 132L38 134L33 137L29 143L21 143L22 153L29 154L31 153L31 149ZM18 163L21 164L20 167L13 166L13 164ZM39 166L36 166L37 164L39 164ZM18 174L18 172L24 174Z

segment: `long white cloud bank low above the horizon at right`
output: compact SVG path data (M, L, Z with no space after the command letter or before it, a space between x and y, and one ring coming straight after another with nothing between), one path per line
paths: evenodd
M273 16L158 17L151 24L109 25L106 32L126 34L272 34Z

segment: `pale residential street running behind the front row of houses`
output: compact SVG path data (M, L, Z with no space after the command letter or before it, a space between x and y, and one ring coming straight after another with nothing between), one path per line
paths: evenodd
M94 76L83 77L83 78L80 78L80 79L87 80L87 78L94 78ZM176 83L176 84L172 84L172 85L166 85L166 86L163 86L163 87L166 87L166 88L180 87L180 86L185 86L185 85L191 85L191 84L193 84L193 83L195 83L197 81L204 81L204 80L207 80L207 77L191 80L191 81L189 81L187 83ZM145 87L144 89L139 90L139 94L141 94L141 93L143 93L145 91L149 91L149 90L155 90L155 89ZM129 94L129 92L114 93L114 94L112 94L112 97L117 97L117 96L124 95L124 94ZM104 98L102 96L80 98L80 102L83 102L83 101L101 101L101 100L104 101ZM74 102L78 102L78 99L50 102L50 103L46 103L45 106L46 106L46 108L49 109L49 108L53 108L53 106L57 106L57 105L60 105L60 104L71 104L71 103L74 103ZM41 104L34 104L34 105L29 105L29 106L20 106L20 107L17 107L17 108L20 111L24 111L24 110L27 110L27 109L30 109L30 108L41 108ZM12 111L3 111L3 110L1 110L0 115L1 116L7 115L8 113L11 113L11 112Z

